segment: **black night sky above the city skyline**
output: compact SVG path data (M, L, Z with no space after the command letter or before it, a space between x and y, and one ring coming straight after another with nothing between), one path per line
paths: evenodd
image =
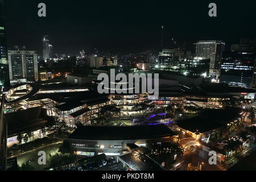
M38 3L47 6L47 17L38 16ZM217 17L208 16L210 2ZM196 40L217 39L236 43L254 38L255 0L244 1L88 1L7 0L7 43L42 52L42 36L49 35L55 53L119 52L159 49L161 29L179 44L191 47ZM165 36L165 42L170 39Z

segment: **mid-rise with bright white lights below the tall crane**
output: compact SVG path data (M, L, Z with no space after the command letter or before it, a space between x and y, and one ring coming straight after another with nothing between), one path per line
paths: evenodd
M161 68L169 68L171 65L172 58L174 53L172 49L163 49L162 52L159 52L158 56L158 67Z

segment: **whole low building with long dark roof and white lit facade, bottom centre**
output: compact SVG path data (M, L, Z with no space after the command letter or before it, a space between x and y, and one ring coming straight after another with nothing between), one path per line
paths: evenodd
M177 135L163 124L127 127L82 126L67 138L77 155L120 155L127 143L176 142Z

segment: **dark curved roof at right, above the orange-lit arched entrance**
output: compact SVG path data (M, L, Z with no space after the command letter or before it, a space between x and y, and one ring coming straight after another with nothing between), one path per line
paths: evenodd
M199 133L205 133L226 126L230 120L239 117L240 112L240 108L210 109L197 117L177 121L176 125L192 133L197 130Z

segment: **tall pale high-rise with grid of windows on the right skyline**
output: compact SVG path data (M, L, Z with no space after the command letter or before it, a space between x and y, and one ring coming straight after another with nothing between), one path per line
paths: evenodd
M221 40L200 40L196 44L196 57L210 59L209 76L220 76L220 65L225 43Z

